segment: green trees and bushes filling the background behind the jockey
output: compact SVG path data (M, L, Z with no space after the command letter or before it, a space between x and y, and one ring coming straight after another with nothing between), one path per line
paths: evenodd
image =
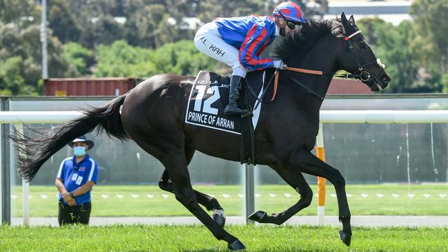
M216 17L270 16L279 2L48 1L49 76L193 75L201 69L228 74L227 65L194 48L197 28L187 29L185 17L198 17L206 23ZM327 1L321 2L323 9L327 8ZM14 83L2 83L3 94L36 94L41 90L40 4L34 0L0 1L1 78ZM313 11L303 10L305 16ZM357 22L376 56L387 65L391 83L385 92L446 92L448 0L413 1L410 13L414 21L398 26L378 18ZM17 69L13 71L12 65Z

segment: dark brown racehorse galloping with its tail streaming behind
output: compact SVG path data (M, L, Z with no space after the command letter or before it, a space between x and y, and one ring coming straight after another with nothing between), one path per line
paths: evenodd
M294 34L276 44L274 54L291 67L320 70L323 74L281 71L276 99L262 107L255 131L255 160L274 169L296 189L300 199L281 213L269 215L257 211L250 219L282 224L312 202L312 189L302 173L320 176L332 182L336 189L338 217L343 225L339 235L349 246L352 227L345 179L338 169L310 152L318 134L319 109L332 76L338 70L354 74L373 91L387 87L390 78L358 30L353 16L347 19L344 13L341 19L304 23ZM187 166L196 150L226 160L240 158L236 148L240 136L184 122L194 78L173 74L152 76L107 105L91 107L83 116L62 123L46 134L36 138L12 136L18 152L24 154L19 154L19 174L32 180L43 162L72 139L95 128L105 130L116 138L134 140L160 160L165 167L159 182L161 189L174 193L176 200L216 239L227 242L228 249L245 249L238 238L223 228L225 215L218 201L195 191L190 182ZM214 210L214 218L199 204Z

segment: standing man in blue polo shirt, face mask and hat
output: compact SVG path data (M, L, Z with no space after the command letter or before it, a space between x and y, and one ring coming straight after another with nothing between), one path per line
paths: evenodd
M59 225L89 224L90 191L98 179L98 165L86 151L94 143L80 136L68 145L73 148L74 156L61 162L55 182L59 190Z

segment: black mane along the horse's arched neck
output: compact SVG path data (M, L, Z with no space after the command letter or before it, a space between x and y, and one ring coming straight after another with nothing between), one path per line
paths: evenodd
M307 54L316 41L327 34L344 36L345 32L340 19L323 19L315 21L309 19L286 37L276 41L271 54L274 58L281 58L288 62L291 58L297 58Z

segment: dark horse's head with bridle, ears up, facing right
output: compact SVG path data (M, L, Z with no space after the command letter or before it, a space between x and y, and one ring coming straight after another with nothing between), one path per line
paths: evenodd
M340 17L345 30L345 44L343 53L338 56L340 67L350 72L360 81L368 85L371 91L379 91L387 87L390 81L385 72L385 65L377 59L369 43L355 24L355 19L347 19L345 14Z

